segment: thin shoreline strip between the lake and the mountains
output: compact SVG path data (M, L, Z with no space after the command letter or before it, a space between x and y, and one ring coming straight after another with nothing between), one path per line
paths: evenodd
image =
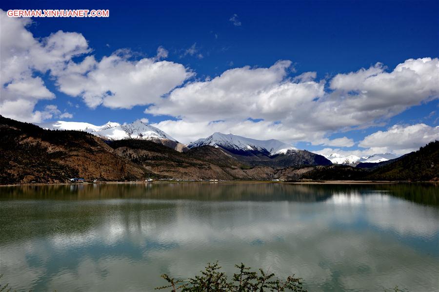
M258 181L258 180L248 180L248 181L130 181L130 182L120 182L120 181L102 181L99 183L27 183L27 184L10 184L10 185L0 185L1 187L20 187L20 186L75 186L75 185L148 185L148 184L163 184L163 183L195 183L195 184L288 184L288 185L388 185L388 184L418 184L418 183L428 183L428 184L439 184L439 182L434 181L348 181L348 180L327 180L327 181Z

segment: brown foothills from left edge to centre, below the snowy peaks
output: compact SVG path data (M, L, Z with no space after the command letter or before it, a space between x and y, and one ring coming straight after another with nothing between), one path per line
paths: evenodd
M124 181L267 180L271 167L243 165L212 146L178 152L142 139L102 140L75 130L46 130L0 116L0 184L64 183L69 178Z

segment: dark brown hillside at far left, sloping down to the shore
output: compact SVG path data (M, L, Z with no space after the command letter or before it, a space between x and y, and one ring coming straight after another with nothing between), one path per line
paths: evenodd
M60 183L72 177L132 180L154 175L86 132L44 130L2 116L0 130L1 184Z

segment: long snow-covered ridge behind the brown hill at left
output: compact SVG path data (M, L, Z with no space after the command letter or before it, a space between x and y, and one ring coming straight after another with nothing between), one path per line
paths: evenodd
M141 139L149 140L171 147L177 151L187 148L155 126L145 124L137 120L130 124L108 122L105 125L93 125L81 122L57 121L55 123L36 124L45 129L79 130L99 136L105 140Z

